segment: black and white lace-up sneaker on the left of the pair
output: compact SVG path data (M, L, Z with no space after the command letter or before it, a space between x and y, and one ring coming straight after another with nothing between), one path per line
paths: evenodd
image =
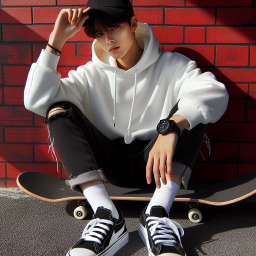
M112 217L109 209L98 207L93 219L85 226L78 242L66 256L112 256L128 242L128 231L124 218Z

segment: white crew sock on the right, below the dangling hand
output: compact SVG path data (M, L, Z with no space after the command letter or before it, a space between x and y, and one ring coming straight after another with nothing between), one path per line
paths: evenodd
M145 213L150 214L150 209L152 206L160 205L163 206L166 213L168 214L170 211L170 207L174 201L174 198L180 188L180 185L177 183L167 179L166 185L162 183L160 178L161 187L155 188L153 196L146 208Z

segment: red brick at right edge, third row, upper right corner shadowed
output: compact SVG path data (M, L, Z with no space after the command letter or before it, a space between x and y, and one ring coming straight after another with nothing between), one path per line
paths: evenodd
M207 43L254 43L256 27L207 27Z

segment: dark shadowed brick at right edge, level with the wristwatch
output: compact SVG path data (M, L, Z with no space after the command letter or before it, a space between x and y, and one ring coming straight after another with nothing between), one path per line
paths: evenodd
M207 134L215 142L254 142L256 123L217 122L209 124Z

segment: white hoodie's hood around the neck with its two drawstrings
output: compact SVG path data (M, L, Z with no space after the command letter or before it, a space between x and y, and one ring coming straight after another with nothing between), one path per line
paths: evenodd
M138 26L135 30L135 37L140 48L143 49L143 53L139 61L128 70L118 68L116 60L107 54L99 45L97 40L92 43L92 62L97 64L100 68L105 70L110 70L114 74L113 84L113 126L115 127L115 108L116 108L116 77L119 76L134 76L133 85L133 97L130 107L130 114L128 120L128 126L124 132L125 143L130 143L132 141L131 135L131 121L132 113L134 109L134 102L136 97L136 87L137 87L137 76L140 72L154 63L160 56L159 42L153 35L152 29L146 23L138 22Z

